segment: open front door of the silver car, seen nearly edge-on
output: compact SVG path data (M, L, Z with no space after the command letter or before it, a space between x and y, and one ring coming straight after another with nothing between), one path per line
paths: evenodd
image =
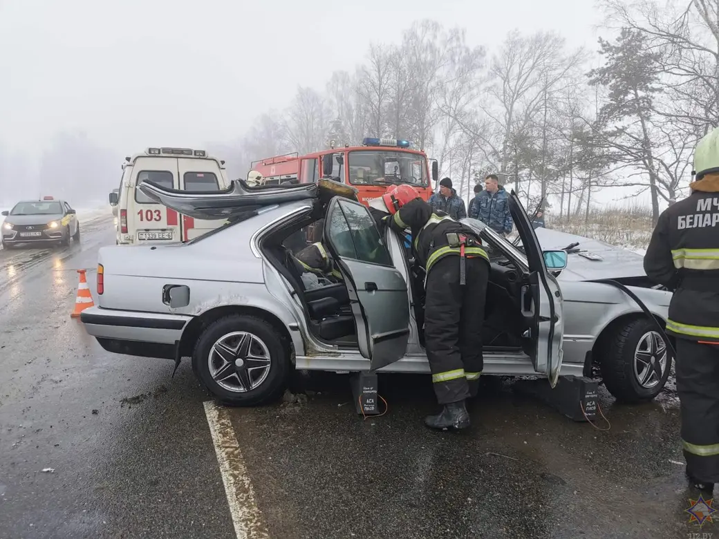
M553 275L546 269L539 240L534 233L529 216L514 191L509 195L509 208L522 239L529 265L529 284L522 290L522 306L525 314L533 318L531 338L534 341L534 370L546 374L554 387L562 367L562 291Z

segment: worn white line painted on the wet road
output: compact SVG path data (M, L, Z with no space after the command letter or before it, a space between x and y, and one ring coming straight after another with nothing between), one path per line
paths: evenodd
M255 502L255 491L227 410L211 400L203 405L237 539L268 539L270 535Z

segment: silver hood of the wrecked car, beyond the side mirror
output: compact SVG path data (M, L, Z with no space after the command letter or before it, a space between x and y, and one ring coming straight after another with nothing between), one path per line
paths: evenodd
M535 229L539 244L544 250L569 249L567 267L559 274L559 280L586 281L593 279L622 279L646 277L644 257L628 249L616 247L597 239L567 234L557 230Z

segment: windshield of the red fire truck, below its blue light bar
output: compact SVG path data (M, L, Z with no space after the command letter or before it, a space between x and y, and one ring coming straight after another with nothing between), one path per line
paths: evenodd
M349 183L352 185L428 185L423 155L392 150L362 150L349 152L347 160Z

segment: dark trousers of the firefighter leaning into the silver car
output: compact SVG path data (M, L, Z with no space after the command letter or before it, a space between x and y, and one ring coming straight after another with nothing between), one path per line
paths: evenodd
M439 404L477 395L482 374L482 323L489 264L466 260L465 285L459 284L459 256L436 262L427 274L424 341Z

